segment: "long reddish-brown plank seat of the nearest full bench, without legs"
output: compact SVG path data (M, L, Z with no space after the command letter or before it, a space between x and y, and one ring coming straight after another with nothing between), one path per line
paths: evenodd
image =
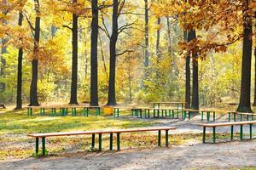
M72 136L94 133L132 133L132 132L146 132L146 131L158 131L158 130L174 130L176 127L142 127L142 128L127 128L127 129L110 129L110 130L95 130L95 131L79 131L79 132L67 132L67 133L33 133L27 134L27 136L33 138L42 137L56 137L56 136Z

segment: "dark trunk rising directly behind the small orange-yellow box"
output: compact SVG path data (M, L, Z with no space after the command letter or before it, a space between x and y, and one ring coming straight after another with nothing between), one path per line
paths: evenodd
M113 0L112 35L110 37L109 50L109 81L108 81L108 103L107 105L117 105L115 99L115 67L116 67L116 42L118 39L118 10L119 1Z

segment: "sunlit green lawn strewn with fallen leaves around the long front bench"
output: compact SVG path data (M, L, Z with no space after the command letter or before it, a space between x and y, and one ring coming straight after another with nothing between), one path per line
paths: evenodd
M124 113L122 112L122 115ZM125 115L129 115L128 112ZM27 133L68 132L79 130L148 127L160 125L157 120L140 120L125 116L26 116L26 111L2 111L0 113L0 160L33 156L34 139ZM115 136L113 145L116 145ZM162 136L164 143L164 135ZM176 135L170 138L170 145L182 144L200 135ZM97 141L97 139L96 139ZM108 150L108 135L102 136L102 149ZM97 144L97 143L96 143ZM163 144L164 145L164 144ZM97 145L96 145L97 146ZM150 148L157 146L156 133L121 134L121 148ZM66 151L90 151L90 135L48 138L46 148L49 155L59 155Z

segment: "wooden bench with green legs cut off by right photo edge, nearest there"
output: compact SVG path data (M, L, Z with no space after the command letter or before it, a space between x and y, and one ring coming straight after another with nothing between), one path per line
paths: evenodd
M253 124L255 124L256 121L247 121L247 122L219 122L219 123L202 123L199 124L199 126L203 127L203 137L202 142L206 143L206 128L212 127L212 141L213 143L216 143L216 127L231 127L231 133L230 138L233 139L233 132L234 132L234 126L240 125L240 139L243 139L243 125L249 125L250 126L250 139L253 138Z

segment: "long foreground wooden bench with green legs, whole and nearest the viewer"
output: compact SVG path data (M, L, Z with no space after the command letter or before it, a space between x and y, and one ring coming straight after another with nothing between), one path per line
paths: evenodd
M166 146L169 144L169 130L174 130L175 127L141 127L141 128L128 128L128 129L112 129L112 130L93 130L93 131L80 131L80 132L67 132L67 133L33 133L27 136L36 139L36 155L39 151L39 139L42 139L42 155L46 155L45 139L48 137L59 136L74 136L74 135L91 135L91 148L95 148L95 135L99 135L99 148L102 150L102 134L109 134L109 150L113 150L113 134L117 134L117 150L120 150L120 133L138 133L158 131L158 145L161 144L161 131L166 131Z

